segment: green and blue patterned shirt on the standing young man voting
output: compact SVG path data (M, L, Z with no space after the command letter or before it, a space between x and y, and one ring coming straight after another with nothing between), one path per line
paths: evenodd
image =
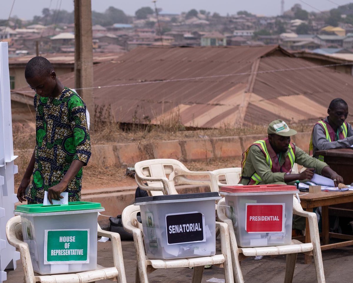
M44 191L57 185L74 159L88 163L91 142L86 105L69 88L56 98L35 95L36 147L33 180L26 195L28 204L43 203ZM67 186L69 201L81 199L82 168Z

